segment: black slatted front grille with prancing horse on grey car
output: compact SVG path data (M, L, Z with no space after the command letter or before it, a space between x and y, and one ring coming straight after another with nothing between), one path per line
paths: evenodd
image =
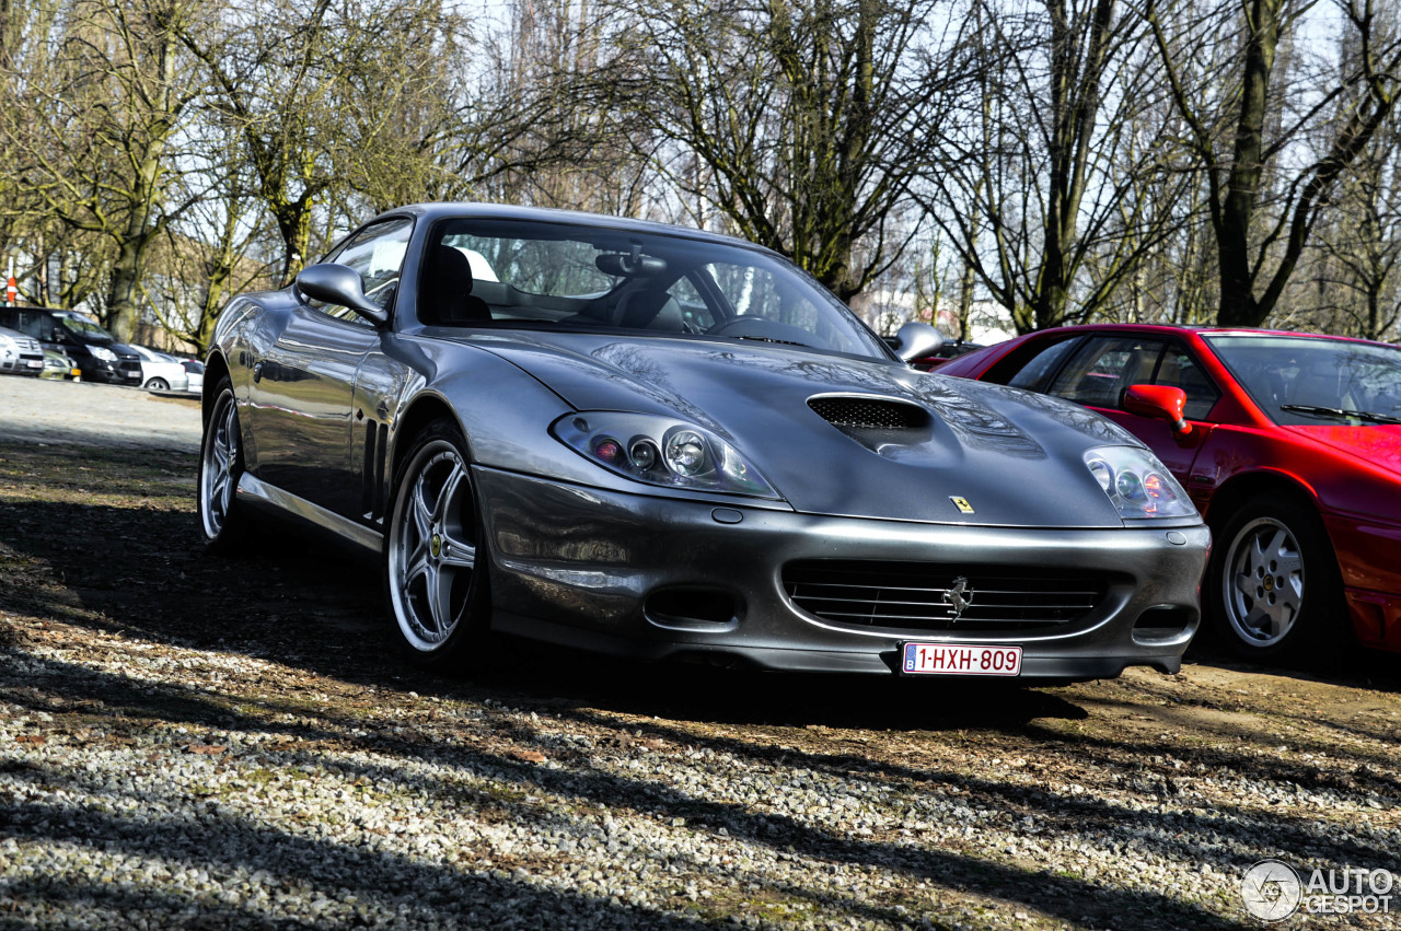
M783 589L800 609L843 624L1034 630L1086 617L1103 603L1110 581L1006 566L803 560L783 567Z

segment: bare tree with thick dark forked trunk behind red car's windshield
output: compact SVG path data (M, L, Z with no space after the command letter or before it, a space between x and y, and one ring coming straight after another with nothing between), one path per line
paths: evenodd
M1401 42L1374 0L1337 1L1359 49L1342 62L1307 60L1300 29L1313 8L1314 0L1143 7L1206 175L1223 325L1271 315L1330 196L1395 106ZM1203 43L1223 38L1234 43L1234 67L1202 73L1195 59ZM1281 52L1293 55L1293 73Z

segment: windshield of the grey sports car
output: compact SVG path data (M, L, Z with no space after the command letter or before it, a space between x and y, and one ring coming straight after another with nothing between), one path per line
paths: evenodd
M439 224L417 311L434 325L720 336L891 358L846 305L783 259L741 245L559 223Z

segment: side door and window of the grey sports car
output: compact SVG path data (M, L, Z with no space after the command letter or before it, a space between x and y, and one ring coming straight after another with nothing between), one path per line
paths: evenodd
M361 230L329 260L360 273L366 295L389 309L398 290L412 220ZM276 340L254 364L251 416L258 475L283 491L353 517L360 511L357 463L350 454L353 388L381 332L349 308L298 302Z

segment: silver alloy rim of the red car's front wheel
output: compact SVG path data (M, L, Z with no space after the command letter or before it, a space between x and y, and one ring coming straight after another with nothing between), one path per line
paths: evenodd
M1276 517L1257 517L1231 538L1220 577L1226 620L1240 641L1267 650L1293 631L1304 603L1304 554Z

